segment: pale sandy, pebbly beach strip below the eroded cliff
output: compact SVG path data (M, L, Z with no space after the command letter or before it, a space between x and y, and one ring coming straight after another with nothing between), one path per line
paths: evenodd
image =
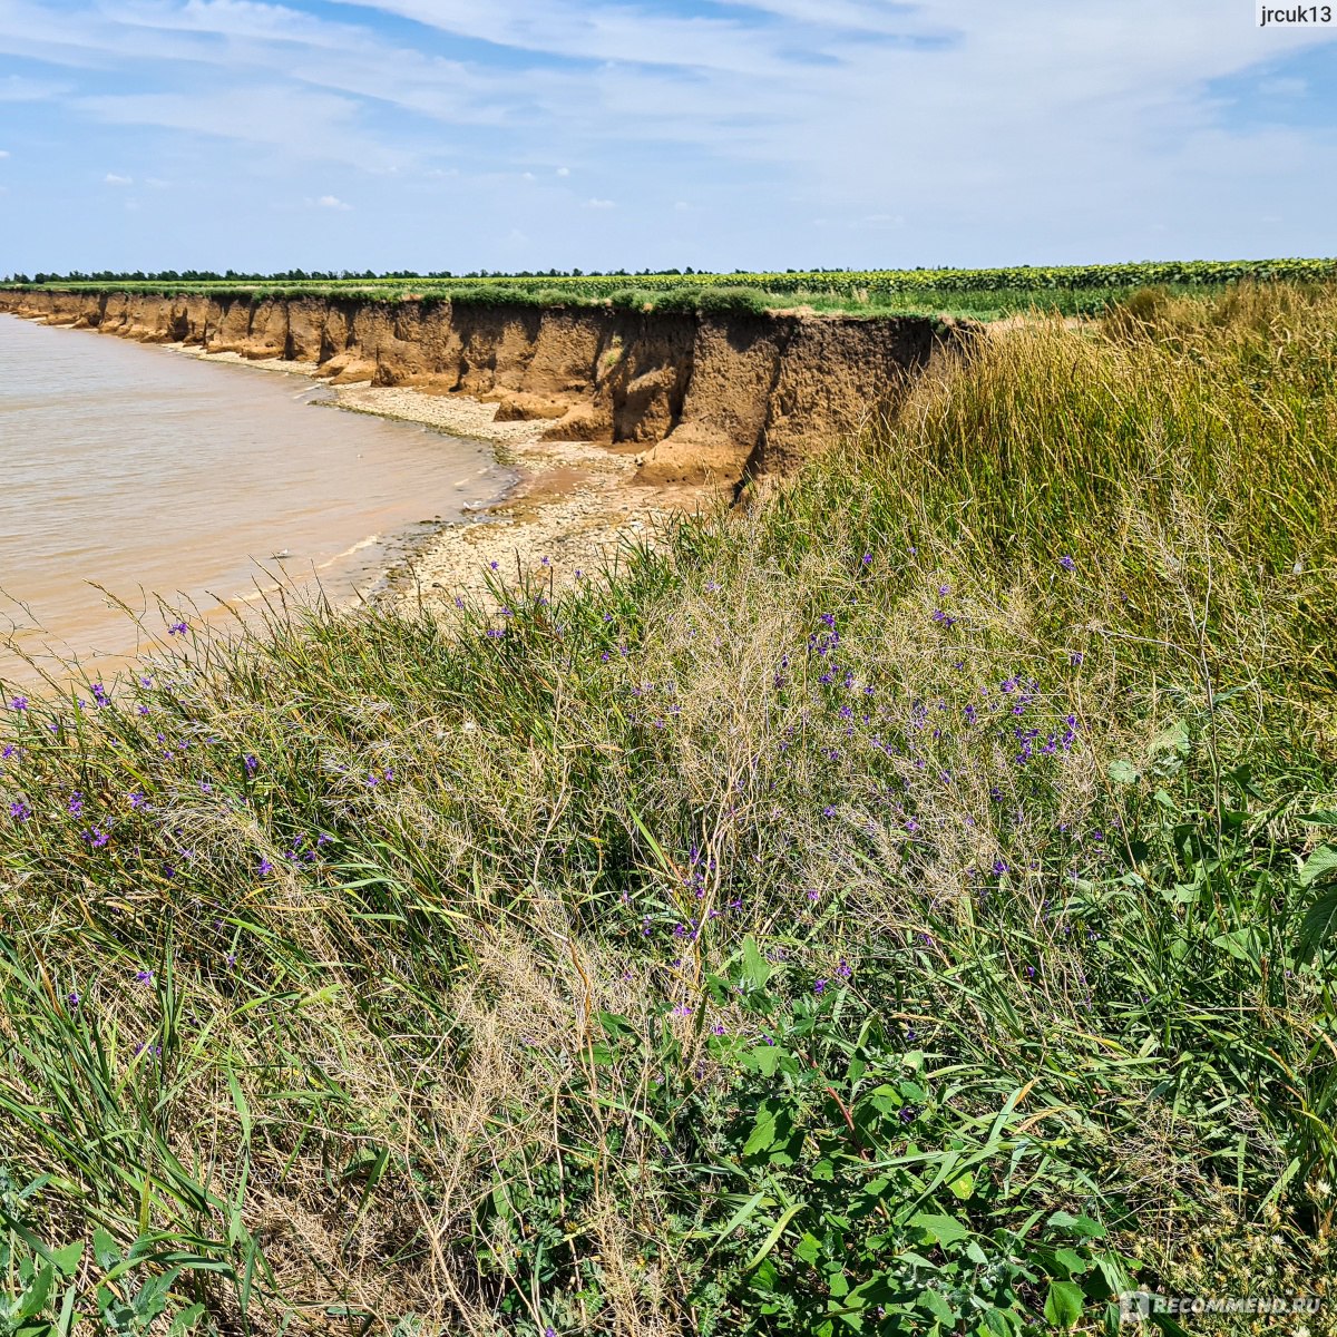
M238 362L321 381L314 362L245 358L168 345L187 357ZM544 441L541 421L496 421L499 405L465 394L429 394L369 381L329 385L321 408L418 422L487 441L517 480L497 503L463 523L443 523L414 540L385 572L374 598L404 610L453 604L485 594L488 578L541 574L556 584L610 563L627 543L654 543L664 520L706 509L719 489L639 481L640 445ZM547 562L544 562L547 559Z

